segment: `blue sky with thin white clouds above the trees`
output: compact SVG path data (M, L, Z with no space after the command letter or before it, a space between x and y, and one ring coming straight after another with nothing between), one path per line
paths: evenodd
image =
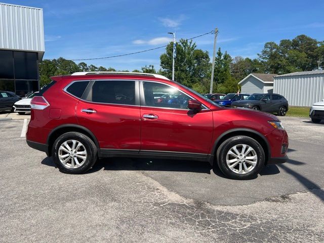
M324 41L324 1L5 1L44 9L44 58L106 57L166 45L219 28L217 48L255 58L264 43L306 34ZM212 56L213 35L196 38ZM116 69L159 68L164 49L86 61Z

